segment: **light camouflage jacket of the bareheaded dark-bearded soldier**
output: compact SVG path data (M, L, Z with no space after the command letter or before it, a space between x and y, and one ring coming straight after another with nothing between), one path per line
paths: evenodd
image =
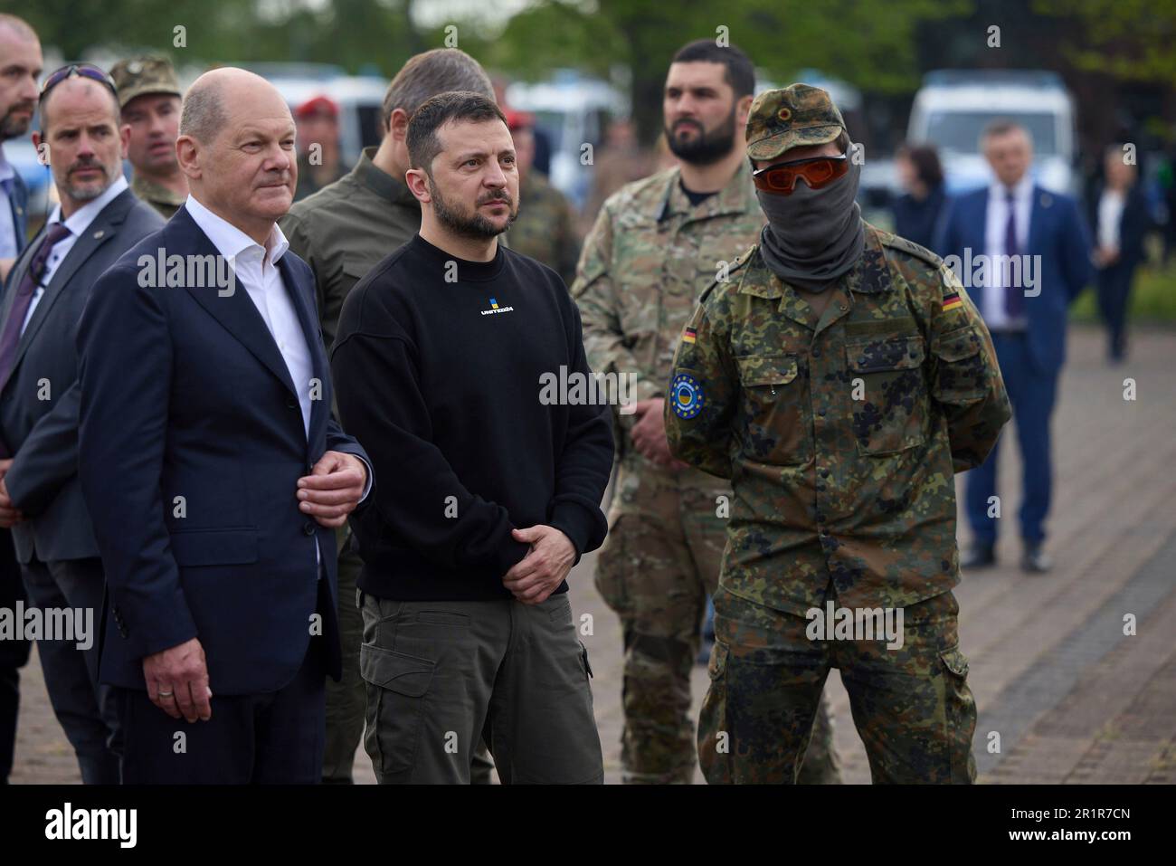
M634 400L663 397L682 326L763 224L746 162L696 207L677 167L610 195L584 239L572 286L593 371L634 375ZM633 415L617 418L629 429Z

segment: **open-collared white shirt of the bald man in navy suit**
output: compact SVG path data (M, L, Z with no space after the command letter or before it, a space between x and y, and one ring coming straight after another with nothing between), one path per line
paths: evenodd
M282 360L286 361L286 369L289 371L290 381L298 392L299 406L302 408L302 428L309 439L310 379L314 377L314 364L310 359L310 346L306 341L298 312L294 309L294 301L282 280L282 272L278 268L278 260L289 249L289 241L275 222L266 239L266 246L262 247L232 222L201 205L194 195L189 194L183 206L200 226L200 231L208 235L216 252L228 260L229 267L236 274L236 282L245 286L262 321L266 322L266 328L278 344ZM372 491L372 465L363 458L359 459L367 467L367 481L363 485L363 495L360 497L360 501L363 501ZM319 552L318 539L314 549L321 564L322 555ZM319 577L322 577L321 568Z

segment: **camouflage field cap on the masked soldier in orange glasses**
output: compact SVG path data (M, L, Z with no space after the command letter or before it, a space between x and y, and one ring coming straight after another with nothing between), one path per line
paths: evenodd
M747 155L775 159L797 145L823 145L846 132L833 98L820 87L789 85L766 91L751 102L747 118Z

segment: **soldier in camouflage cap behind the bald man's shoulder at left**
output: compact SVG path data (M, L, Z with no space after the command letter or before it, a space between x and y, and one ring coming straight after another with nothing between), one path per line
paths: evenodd
M111 78L119 88L122 122L131 126L131 191L169 220L188 198L188 179L175 159L183 95L175 69L167 58L133 58L112 66Z

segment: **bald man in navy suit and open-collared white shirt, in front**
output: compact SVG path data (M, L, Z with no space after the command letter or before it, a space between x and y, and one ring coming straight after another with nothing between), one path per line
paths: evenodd
M215 69L176 154L187 204L103 274L78 331L122 778L315 782L340 675L334 527L370 473L330 418L314 279L275 224L294 121L265 79Z

